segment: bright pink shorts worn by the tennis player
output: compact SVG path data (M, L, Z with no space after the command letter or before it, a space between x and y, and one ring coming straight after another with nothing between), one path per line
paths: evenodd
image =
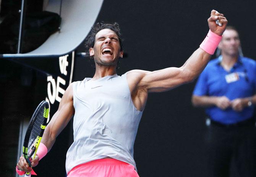
M98 159L80 164L67 177L139 177L134 166L117 159Z

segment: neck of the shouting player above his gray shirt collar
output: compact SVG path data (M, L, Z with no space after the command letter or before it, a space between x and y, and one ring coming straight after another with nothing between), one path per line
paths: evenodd
M96 71L94 76L92 77L92 80L117 74L116 67L117 66L104 66L104 65L96 64Z

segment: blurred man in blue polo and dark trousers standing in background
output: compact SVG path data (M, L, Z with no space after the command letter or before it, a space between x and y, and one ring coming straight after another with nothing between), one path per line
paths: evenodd
M240 39L232 26L223 33L219 49L221 55L206 66L192 97L211 119L206 135L209 176L228 177L233 157L240 176L256 176L256 62L239 55Z

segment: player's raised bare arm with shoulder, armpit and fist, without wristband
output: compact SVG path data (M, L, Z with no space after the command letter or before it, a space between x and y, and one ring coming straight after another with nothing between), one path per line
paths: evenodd
M222 25L216 24L216 20ZM211 11L208 25L214 35L221 36L225 31L227 19L215 10ZM216 46L217 47L217 46ZM143 110L149 92L164 92L178 85L191 82L203 71L211 55L198 48L180 68L165 68L158 71L132 70L127 73L127 81L134 106Z

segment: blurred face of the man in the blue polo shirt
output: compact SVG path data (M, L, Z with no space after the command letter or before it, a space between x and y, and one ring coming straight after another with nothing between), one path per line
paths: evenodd
M240 39L237 31L226 29L219 44L222 55L237 56L240 47Z

